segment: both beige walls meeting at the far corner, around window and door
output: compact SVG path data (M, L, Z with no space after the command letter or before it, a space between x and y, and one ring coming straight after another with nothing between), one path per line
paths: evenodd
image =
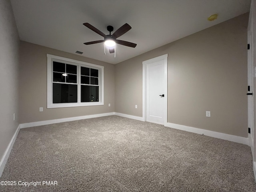
M244 14L116 65L21 42L20 123L107 112L142 116L142 62L167 53L168 122L247 137L247 24ZM105 105L46 109L46 54L105 66Z

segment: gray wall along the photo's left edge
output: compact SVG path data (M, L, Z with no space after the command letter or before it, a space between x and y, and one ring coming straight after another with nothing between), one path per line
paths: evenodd
M0 0L0 160L18 128L19 37L10 1ZM15 113L16 119L13 120Z

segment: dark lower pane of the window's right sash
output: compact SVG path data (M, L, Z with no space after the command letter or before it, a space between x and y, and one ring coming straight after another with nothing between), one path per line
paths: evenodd
M99 101L99 87L81 85L81 102L98 102Z

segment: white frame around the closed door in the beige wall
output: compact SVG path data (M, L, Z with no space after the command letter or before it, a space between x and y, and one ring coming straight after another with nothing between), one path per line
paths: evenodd
M164 126L167 124L167 86L168 86L168 54L158 56L142 62L142 119L146 121L146 79L147 79L147 65L153 62L164 60Z

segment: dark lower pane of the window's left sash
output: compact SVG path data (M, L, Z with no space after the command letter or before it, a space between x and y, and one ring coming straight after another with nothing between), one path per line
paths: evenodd
M77 85L53 83L53 103L77 102Z

